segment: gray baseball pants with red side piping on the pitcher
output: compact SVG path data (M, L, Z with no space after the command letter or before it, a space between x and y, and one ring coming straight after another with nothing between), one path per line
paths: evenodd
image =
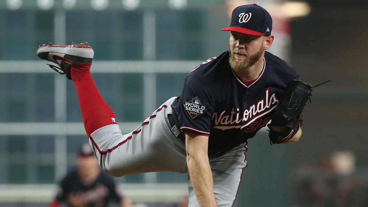
M171 131L168 114L176 97L163 103L141 126L121 134L118 124L94 131L90 143L101 168L113 176L170 171L187 173L185 145ZM224 137L226 139L226 137ZM220 157L209 158L213 192L219 207L233 205L240 185L245 161L246 143ZM199 207L191 180L188 180L189 207Z

